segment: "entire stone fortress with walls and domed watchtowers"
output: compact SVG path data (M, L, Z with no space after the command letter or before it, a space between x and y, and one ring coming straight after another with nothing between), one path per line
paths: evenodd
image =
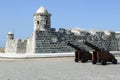
M71 42L81 49L91 50L82 41L87 40L100 48L110 51L120 50L120 33L113 31L81 30L79 28L64 29L58 31L51 28L51 14L40 7L34 17L34 31L25 39L14 39L14 33L7 35L5 53L64 53L73 52L73 48L67 46Z

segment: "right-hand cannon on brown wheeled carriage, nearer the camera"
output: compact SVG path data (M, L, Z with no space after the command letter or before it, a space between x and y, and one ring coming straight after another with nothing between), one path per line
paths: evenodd
M96 64L97 62L101 62L102 65L106 65L107 62L112 62L113 64L117 64L117 59L115 59L115 56L112 55L109 51L100 49L99 47L87 41L84 41L84 44L94 50L92 53L93 64Z

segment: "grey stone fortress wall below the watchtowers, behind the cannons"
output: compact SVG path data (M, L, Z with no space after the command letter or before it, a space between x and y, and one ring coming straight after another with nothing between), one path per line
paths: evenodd
M27 40L8 40L6 53L62 53L73 52L73 48L67 46L71 42L80 48L91 50L85 46L82 41L87 40L100 48L109 51L120 50L120 37L115 33L106 35L103 32L97 32L92 35L89 32L82 32L76 35L73 32L65 31L34 31Z

